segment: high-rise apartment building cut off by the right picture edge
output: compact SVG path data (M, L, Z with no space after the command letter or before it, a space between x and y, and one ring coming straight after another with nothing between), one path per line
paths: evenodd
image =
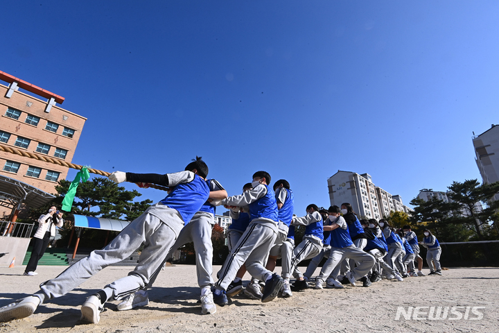
M484 184L499 181L499 125L473 137L476 163ZM493 197L499 200L499 194Z

